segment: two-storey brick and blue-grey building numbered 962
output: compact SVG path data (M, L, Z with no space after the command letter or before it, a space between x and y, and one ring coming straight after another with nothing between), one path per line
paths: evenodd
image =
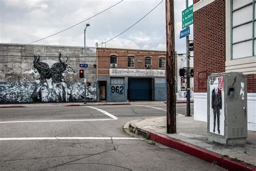
M98 100L166 100L165 58L165 51L98 48Z

